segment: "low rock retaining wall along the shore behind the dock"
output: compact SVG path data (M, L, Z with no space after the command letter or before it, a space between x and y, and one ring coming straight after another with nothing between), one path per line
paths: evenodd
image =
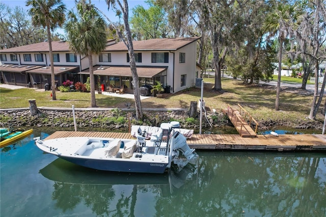
M159 126L163 122L179 121L182 128L199 129L199 117L189 119L185 111L144 111L144 121L137 122L134 113L121 110L111 111L75 111L77 127L104 127L105 129L128 129L129 119L132 125ZM228 124L223 114L214 114L208 119L214 127ZM210 127L203 118L203 128ZM0 111L0 126L18 127L73 127L72 111L39 110L32 116L30 110ZM63 129L64 130L64 129Z

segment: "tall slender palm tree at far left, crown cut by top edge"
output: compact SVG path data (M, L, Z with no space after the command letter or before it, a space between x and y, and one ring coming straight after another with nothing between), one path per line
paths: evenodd
M47 31L49 43L49 56L51 64L52 100L56 100L55 68L53 67L53 54L51 44L51 31L61 27L65 22L66 5L61 0L28 0L26 6L32 6L28 11L34 26L42 26Z

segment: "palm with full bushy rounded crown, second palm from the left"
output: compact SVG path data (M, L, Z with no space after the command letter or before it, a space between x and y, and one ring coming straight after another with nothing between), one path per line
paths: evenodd
M91 1L76 2L77 15L69 11L68 22L65 30L70 49L80 55L85 55L89 60L91 106L96 106L95 80L93 73L93 55L98 55L106 47L106 23L93 7Z

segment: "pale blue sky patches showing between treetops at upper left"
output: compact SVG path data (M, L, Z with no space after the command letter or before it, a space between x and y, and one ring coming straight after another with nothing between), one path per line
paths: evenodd
M11 8L14 8L16 6L20 6L24 8L26 11L29 9L29 7L25 6L26 0L0 0L1 4L5 4ZM62 2L66 5L67 11L71 10L75 7L75 1L74 0L62 0ZM122 2L122 1L121 1ZM117 22L119 19L115 16L115 13L110 9L110 11L107 11L107 5L104 0L92 0L92 4L95 5L97 8L99 8L101 11L105 12L105 15L110 18L112 22ZM139 1L139 0L129 0L128 1L128 7L129 7L129 17L132 15L131 9L134 8L137 5L142 5L144 8L148 8L145 1ZM105 21L106 18L104 18ZM123 20L122 20L123 21ZM108 23L108 21L107 21ZM62 29L58 29L57 31L60 34L65 34Z

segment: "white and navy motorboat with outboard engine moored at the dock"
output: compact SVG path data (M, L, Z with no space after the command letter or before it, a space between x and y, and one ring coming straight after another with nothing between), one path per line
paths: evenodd
M44 152L74 164L105 171L164 173L171 165L177 170L197 163L195 149L175 130L178 122L162 123L160 130L146 140L146 131L139 130L137 140L116 138L67 137L51 140L35 138Z

